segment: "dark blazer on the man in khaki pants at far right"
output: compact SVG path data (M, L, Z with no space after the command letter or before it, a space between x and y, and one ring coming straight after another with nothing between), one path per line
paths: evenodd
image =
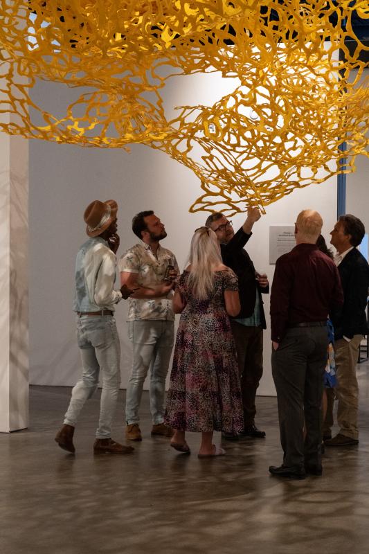
M331 314L334 325L334 337L343 336L352 339L354 334L368 334L366 305L368 302L369 265L363 255L353 248L339 267L343 289L343 307L336 314Z

